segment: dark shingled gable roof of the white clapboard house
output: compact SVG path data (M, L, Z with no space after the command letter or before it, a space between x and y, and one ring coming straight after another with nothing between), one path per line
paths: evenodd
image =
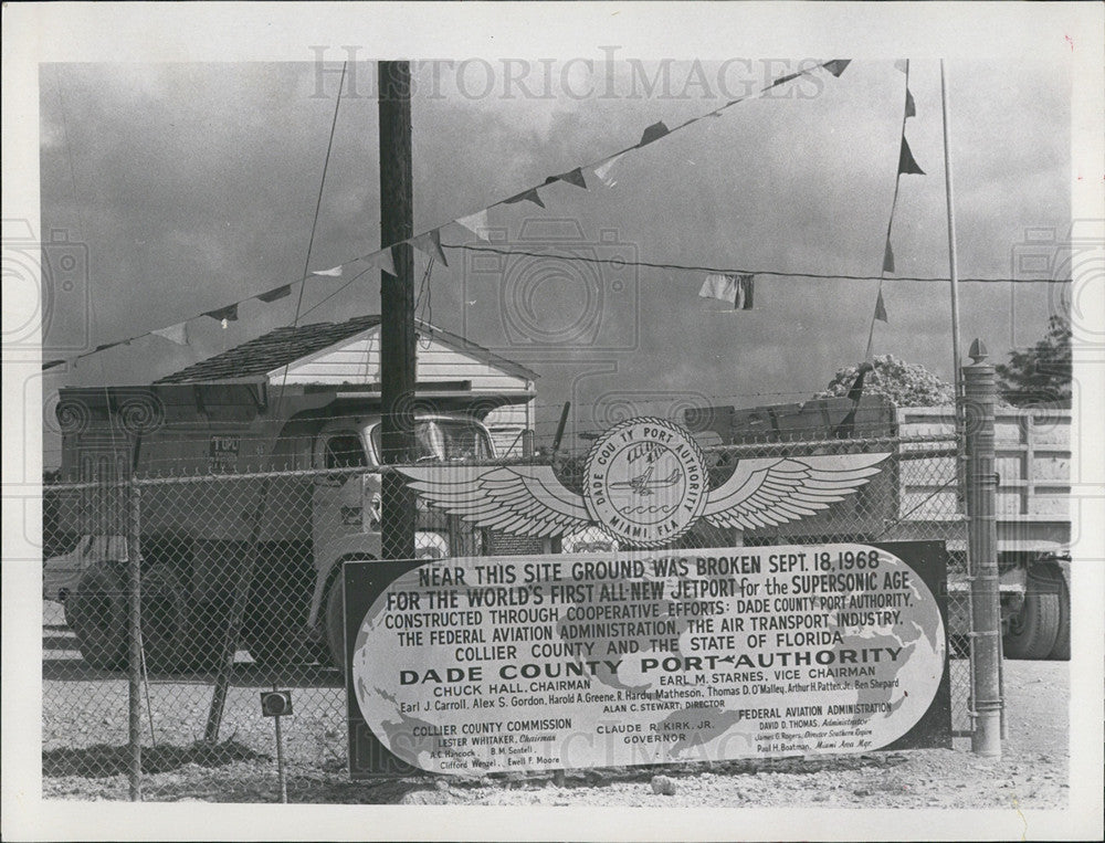
M259 378L273 369L278 369L302 360L317 351L370 330L380 324L379 314L357 316L347 322L320 322L314 325L276 328L256 339L243 343L222 354L167 375L155 383L196 383L217 380L243 380ZM499 357L490 349L476 345L464 337L450 334L428 323L415 320L418 330L429 333L433 338L454 350L483 360L506 372L533 380L537 373L520 363Z

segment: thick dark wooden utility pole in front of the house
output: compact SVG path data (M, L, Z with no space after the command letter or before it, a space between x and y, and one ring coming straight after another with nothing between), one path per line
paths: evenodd
M410 62L379 62L380 243L414 234L411 178ZM392 250L396 274L380 276L380 380L385 463L404 463L414 450L414 255ZM414 496L402 478L383 475L382 545L386 559L414 558Z

